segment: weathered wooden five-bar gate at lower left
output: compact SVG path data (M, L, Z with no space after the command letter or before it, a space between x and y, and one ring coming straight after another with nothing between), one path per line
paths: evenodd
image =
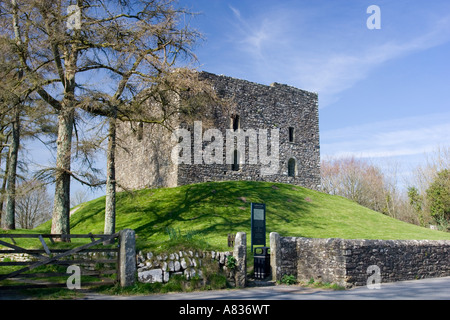
M64 283L58 282L42 282L39 279L42 278L50 278L50 277L67 277L70 276L70 273L66 272L38 272L38 273L25 273L30 270L36 269L45 265L63 265L70 266L76 265L80 267L81 276L92 276L95 278L100 278L101 280L96 282L81 282L82 286L92 286L92 285L100 285L107 283L114 283L118 279L118 268L119 268L119 248L116 245L114 248L104 247L104 248L92 248L97 245L102 245L103 243L112 243L119 237L119 233L115 233L112 235L103 235L103 234L69 234L69 235L61 235L61 234L0 234L0 246L4 246L9 248L8 250L3 250L0 248L0 254L27 254L30 257L33 257L32 260L28 261L1 261L0 267L2 266L23 266L23 268L19 268L12 272L1 274L0 273L0 281L9 279L19 282L25 282L26 284L17 284L17 285L4 285L0 284L0 290L5 289L19 289L19 288L42 288L42 287L64 287L67 285L66 281ZM3 239L10 239L12 243L8 243ZM26 249L17 245L16 239L23 238L34 238L40 241L42 245L42 249ZM63 240L73 239L73 238L89 238L91 242L81 245L76 248L71 249L50 249L44 239L49 239L50 242L54 243L55 238L61 238ZM97 240L96 240L97 239ZM100 259L92 259L89 257L88 259L82 259L82 253L108 253L109 258L100 258ZM80 255L81 254L81 255ZM76 256L74 256L76 255ZM72 256L72 259L67 258ZM9 260L9 259L8 259ZM87 270L86 266L95 265L95 264L115 264L114 268L104 268L102 270ZM1 270L1 268L0 268ZM111 274L117 274L116 280L112 280L111 278L105 278L104 276L109 276ZM38 279L38 280L36 280Z

